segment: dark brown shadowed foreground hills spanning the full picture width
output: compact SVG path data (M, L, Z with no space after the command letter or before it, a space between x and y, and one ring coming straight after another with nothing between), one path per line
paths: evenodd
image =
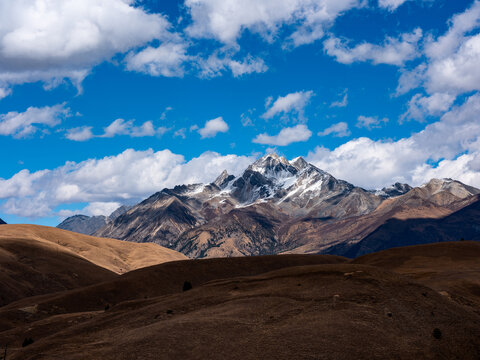
M479 260L480 243L455 242L352 262L280 255L105 270L0 307L0 347L8 360L478 360Z

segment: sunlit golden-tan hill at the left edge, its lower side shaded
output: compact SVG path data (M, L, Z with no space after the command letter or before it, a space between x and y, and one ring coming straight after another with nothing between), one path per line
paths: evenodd
M112 280L116 273L185 256L35 225L0 227L0 306L35 295Z

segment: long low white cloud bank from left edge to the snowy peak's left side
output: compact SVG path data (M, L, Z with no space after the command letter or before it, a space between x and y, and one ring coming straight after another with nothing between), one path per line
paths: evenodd
M63 204L90 203L99 214L99 204L140 200L165 187L213 181L224 169L239 174L254 159L245 156L205 152L185 161L169 150L125 150L116 156L67 162L53 170L30 173L22 170L9 179L0 178L2 211L19 216L53 214ZM105 215L105 214L104 214Z

